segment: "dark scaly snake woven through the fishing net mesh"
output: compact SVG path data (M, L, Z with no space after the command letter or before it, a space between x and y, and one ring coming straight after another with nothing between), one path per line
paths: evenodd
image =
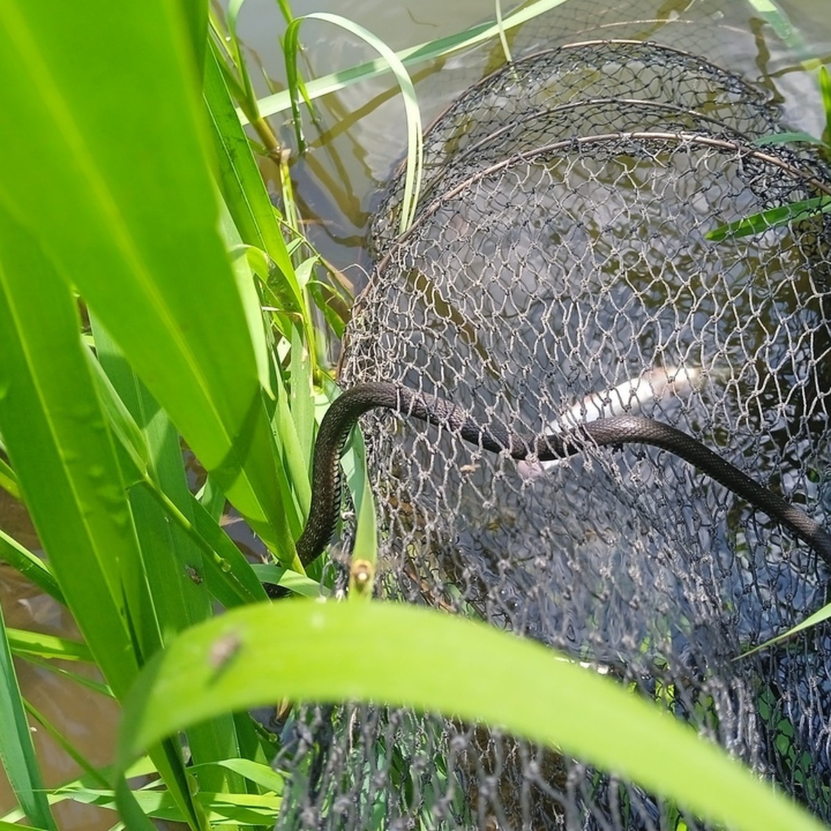
M663 421L644 416L608 416L556 433L524 436L502 427L485 428L453 401L383 381L352 386L332 402L323 416L312 456L311 505L296 543L303 566L323 553L334 534L342 499L340 458L347 438L361 416L377 409L445 428L472 445L520 461L561 460L593 447L652 445L679 456L790 529L831 566L831 534L814 519L701 441Z

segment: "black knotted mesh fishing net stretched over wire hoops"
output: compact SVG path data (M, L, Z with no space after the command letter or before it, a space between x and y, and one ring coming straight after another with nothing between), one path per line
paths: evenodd
M651 43L587 42L505 66L428 131L402 236L403 173L391 179L342 385L393 381L523 435L637 412L822 523L829 220L706 238L831 195L818 155L754 143L782 130L739 77ZM829 627L735 661L824 604L817 553L665 451L517 463L406 416L362 425L381 595L587 661L831 822ZM278 760L293 770L286 827L705 827L479 725L310 706L291 730Z

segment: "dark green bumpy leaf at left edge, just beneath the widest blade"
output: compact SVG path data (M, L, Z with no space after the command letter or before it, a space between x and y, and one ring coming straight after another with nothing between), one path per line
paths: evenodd
M138 550L85 348L69 289L0 210L0 425L61 591L123 694L138 660L119 564Z

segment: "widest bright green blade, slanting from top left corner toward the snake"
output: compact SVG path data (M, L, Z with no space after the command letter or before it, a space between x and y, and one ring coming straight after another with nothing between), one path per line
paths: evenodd
M200 86L177 6L91 0L85 8L78 27L66 4L0 4L0 194L229 499L292 562L258 361L217 232Z

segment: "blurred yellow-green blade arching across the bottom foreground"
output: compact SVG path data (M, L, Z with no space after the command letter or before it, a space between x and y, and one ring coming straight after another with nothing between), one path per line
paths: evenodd
M688 725L609 679L493 627L383 602L263 604L185 632L145 667L126 702L119 769L161 735L284 697L484 720L733 829L822 828Z

